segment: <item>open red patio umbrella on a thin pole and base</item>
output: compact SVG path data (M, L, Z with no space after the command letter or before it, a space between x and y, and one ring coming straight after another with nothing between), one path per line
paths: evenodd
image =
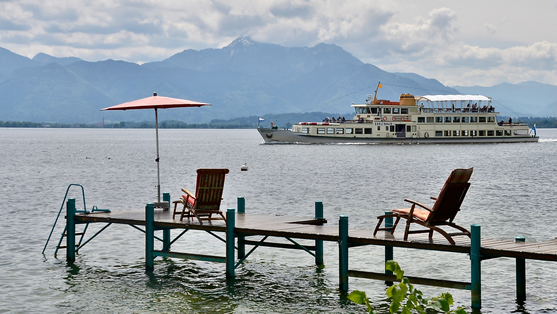
M155 134L157 136L157 207L168 207L163 206L160 202L160 170L159 170L159 118L157 114L157 109L165 108L181 108L181 107L201 107L204 105L211 105L206 103L192 102L192 100L169 98L163 96L157 96L157 93L153 93L152 97L147 97L143 99L134 100L133 102L123 103L115 105L113 107L104 108L101 110L129 110L129 109L155 109Z

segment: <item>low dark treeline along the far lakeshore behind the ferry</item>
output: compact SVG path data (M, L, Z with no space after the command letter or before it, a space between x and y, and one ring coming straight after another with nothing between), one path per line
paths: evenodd
M352 114L334 114L324 112L310 112L310 113L283 113L283 114L265 114L261 115L265 121L260 122L262 127L268 127L271 122L279 128L290 128L296 122L317 122L325 117L346 117L352 118ZM211 123L193 123L187 124L178 120L164 120L159 122L160 129L251 129L257 127L259 117L252 115L251 117L240 117L229 120L213 119ZM509 120L508 116L498 115L497 120ZM557 117L513 117L513 122L527 122L531 128L534 123L536 128L557 128ZM109 128L109 129L153 129L155 123L150 121L143 122L107 122L104 123L46 123L46 122L17 122L17 121L0 121L0 128Z

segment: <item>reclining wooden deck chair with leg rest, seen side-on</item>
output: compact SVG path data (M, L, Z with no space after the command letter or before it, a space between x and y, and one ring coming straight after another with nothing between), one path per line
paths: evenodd
M470 238L470 231L456 225L452 221L455 219L458 211L460 211L462 201L466 196L468 187L470 187L468 180L470 180L470 176L472 176L472 171L473 168L453 170L451 175L447 178L447 181L445 181L445 185L443 186L443 189L441 189L439 196L430 197L435 201L435 204L433 204L433 207L431 208L417 201L405 199L405 202L412 204L411 208L393 209L390 211L393 214L378 216L377 219L379 219L379 223L377 223L373 235L377 234L377 231L380 230L388 230L391 234L393 234L394 229L397 228L400 218L404 218L406 219L406 229L404 230L405 241L408 240L408 234L414 233L429 233L429 238L431 239L433 231L437 231L443 235L449 243L453 245L455 245L455 240L452 239L453 236L466 235ZM416 206L422 208L417 208ZM397 220L392 227L380 228L383 223L383 219L387 217L396 217ZM428 229L410 231L410 225L412 223L416 223ZM460 230L461 232L447 233L443 229L439 228L439 226L449 226Z

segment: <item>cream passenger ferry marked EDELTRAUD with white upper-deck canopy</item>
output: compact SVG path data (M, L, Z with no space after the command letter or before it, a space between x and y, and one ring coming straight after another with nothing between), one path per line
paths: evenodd
M378 85L378 88L380 86ZM401 94L398 102L352 104L351 120L298 122L291 130L257 128L265 143L517 143L538 142L524 122L497 122L481 95Z

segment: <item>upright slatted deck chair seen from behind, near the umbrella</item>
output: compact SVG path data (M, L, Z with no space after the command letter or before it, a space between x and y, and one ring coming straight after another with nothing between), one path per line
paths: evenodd
M184 217L197 218L199 224L203 224L204 220L224 220L221 211L222 189L224 187L224 175L228 173L228 169L198 169L197 170L197 186L196 194L187 189L182 189L185 194L180 200L174 201L174 214L180 214L180 221ZM182 205L182 211L177 210L178 204ZM220 217L213 217L219 215Z

